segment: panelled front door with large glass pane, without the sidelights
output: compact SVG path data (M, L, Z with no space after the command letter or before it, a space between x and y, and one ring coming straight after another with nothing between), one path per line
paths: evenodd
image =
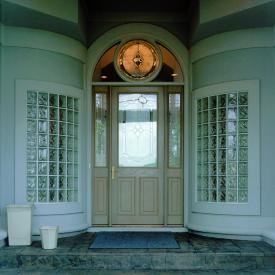
M112 89L112 224L163 224L162 88Z

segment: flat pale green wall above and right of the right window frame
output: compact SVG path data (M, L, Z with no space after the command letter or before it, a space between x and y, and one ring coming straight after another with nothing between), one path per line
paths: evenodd
M214 83L260 80L261 216L275 216L275 48L262 47L227 51L193 63L193 89Z

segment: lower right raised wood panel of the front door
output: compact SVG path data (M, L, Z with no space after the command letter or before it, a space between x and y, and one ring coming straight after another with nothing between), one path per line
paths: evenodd
M139 183L140 215L158 215L158 178L142 177L140 178Z

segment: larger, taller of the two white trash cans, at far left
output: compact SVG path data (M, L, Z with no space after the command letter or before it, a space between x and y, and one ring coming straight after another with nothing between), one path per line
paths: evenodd
M31 245L32 205L7 205L9 245Z

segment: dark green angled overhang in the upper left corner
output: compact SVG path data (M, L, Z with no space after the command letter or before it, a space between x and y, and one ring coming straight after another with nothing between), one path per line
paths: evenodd
M86 13L78 0L1 0L6 26L48 30L86 43Z

